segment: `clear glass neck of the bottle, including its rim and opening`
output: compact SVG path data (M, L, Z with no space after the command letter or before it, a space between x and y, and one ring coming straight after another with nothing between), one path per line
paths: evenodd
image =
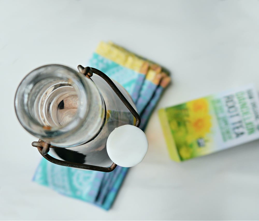
M29 133L59 147L91 140L106 116L103 97L91 79L62 65L30 72L17 89L15 109Z

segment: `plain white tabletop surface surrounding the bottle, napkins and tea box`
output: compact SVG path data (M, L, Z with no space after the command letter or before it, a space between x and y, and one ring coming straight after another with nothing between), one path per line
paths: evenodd
M86 64L113 41L172 72L146 129L149 150L110 211L33 183L37 138L18 123L14 95L32 69ZM259 219L258 140L184 163L168 155L157 110L235 86L259 89L259 1L0 0L0 219Z

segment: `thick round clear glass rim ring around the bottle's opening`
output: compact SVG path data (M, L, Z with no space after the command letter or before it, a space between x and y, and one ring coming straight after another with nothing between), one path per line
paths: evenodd
M41 74L44 73L44 76ZM60 127L48 128L41 125L36 119L34 119L28 110L28 95L33 88L33 86L40 82L46 77L57 77L60 79L66 79L69 81L71 86L73 86L78 93L80 98L80 104L78 110L76 111L73 120L71 120L66 125ZM30 73L28 73L21 83L19 84L16 95L15 95L15 112L20 124L32 135L39 138L54 138L67 136L68 133L75 132L80 128L80 123L87 117L88 106L90 105L90 99L88 99L88 94L90 93L87 82L85 81L85 76L68 66L60 64L48 64L40 66ZM27 116L25 118L24 116Z

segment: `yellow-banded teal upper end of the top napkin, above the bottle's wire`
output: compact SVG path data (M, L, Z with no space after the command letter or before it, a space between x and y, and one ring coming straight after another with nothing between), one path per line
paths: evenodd
M148 62L112 43L100 42L88 66L104 72L119 82L131 95L134 102L139 97L141 86L148 71Z

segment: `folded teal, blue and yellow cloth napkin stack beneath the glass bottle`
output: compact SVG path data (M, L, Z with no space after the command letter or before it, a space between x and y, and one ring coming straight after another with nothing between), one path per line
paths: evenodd
M132 96L145 129L148 118L170 82L169 73L111 42L100 42L88 66L99 69L119 82ZM109 210L128 168L117 166L105 173L53 164L43 158L33 181L63 195L93 203Z

